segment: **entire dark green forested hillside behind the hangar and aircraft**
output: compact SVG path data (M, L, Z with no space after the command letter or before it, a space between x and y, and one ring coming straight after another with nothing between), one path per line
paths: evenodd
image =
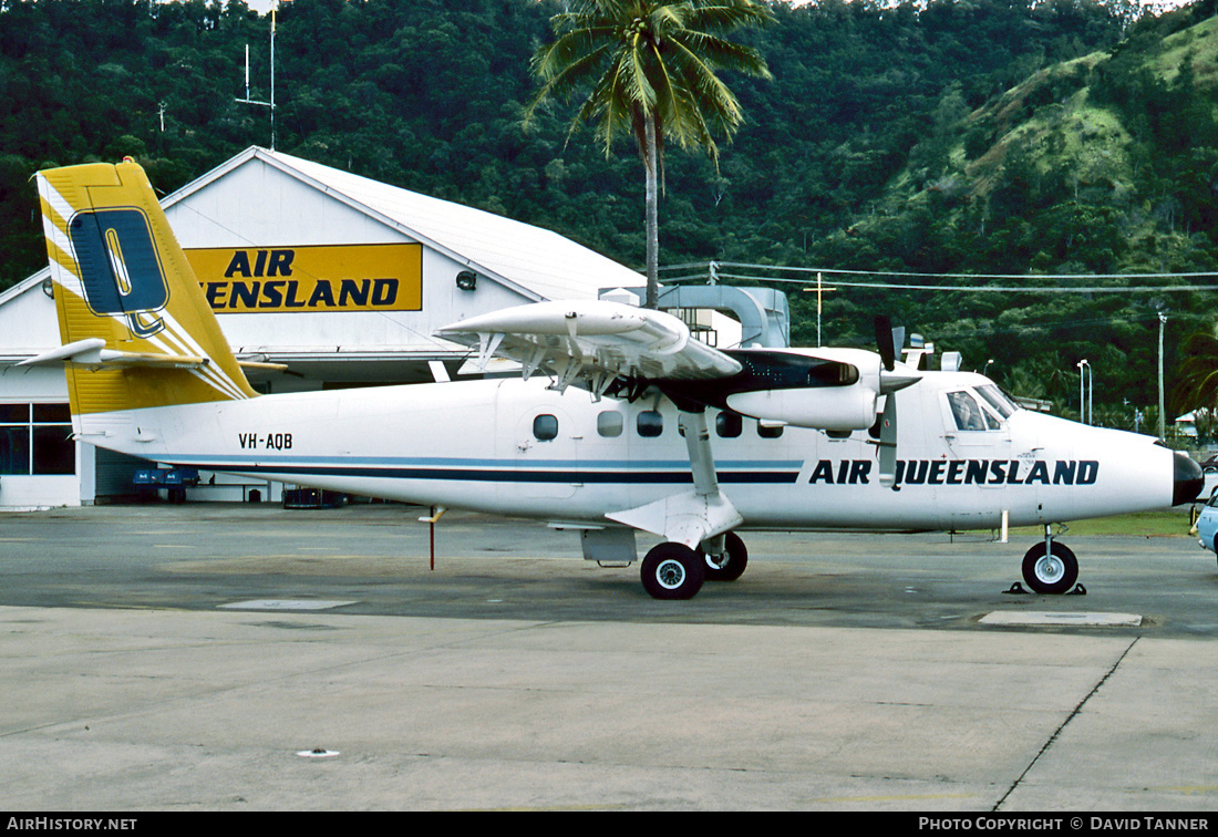
M632 149L607 160L590 134L568 140L561 107L521 127L537 89L527 60L560 5L283 4L276 147L549 227L638 266L643 178ZM1214 0L1163 18L1138 21L1135 9L776 4L775 23L745 35L775 78L728 79L748 122L722 146L719 171L669 154L661 263L1021 277L1214 269ZM168 192L269 145L266 108L235 101L246 44L252 97L269 95L268 29L242 2L0 0L0 288L44 258L28 183L37 168L130 154ZM799 288L788 286L795 336L808 340L815 320ZM843 289L826 303L825 335L868 342L883 311L963 350L966 364L994 358L990 373L1022 394L1077 401L1071 374L1089 356L1111 422L1128 422L1125 401L1153 403L1157 314L1146 296L1032 291ZM1174 351L1211 306L1201 295L1166 303Z

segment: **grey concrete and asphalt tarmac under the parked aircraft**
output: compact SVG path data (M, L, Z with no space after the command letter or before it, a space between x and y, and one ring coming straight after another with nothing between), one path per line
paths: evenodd
M1089 595L1050 599L1001 592L1026 545L759 534L744 579L666 603L569 534L458 515L431 570L417 514L348 510L0 518L0 807L1218 805L1218 587L1188 539L1151 568L1075 546ZM821 549L765 557L797 541ZM980 621L1129 613L1144 573L1169 590L1138 626Z

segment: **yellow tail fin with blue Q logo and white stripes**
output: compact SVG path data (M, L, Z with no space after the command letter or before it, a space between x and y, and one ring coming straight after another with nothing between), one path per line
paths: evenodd
M38 173L73 414L253 397L144 169ZM44 358L34 358L39 362Z

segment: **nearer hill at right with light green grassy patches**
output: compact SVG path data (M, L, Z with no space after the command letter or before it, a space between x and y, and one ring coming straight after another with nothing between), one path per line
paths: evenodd
M973 366L993 359L1007 387L1058 404L1073 395L1077 406L1074 364L1088 358L1099 418L1132 426L1157 398L1160 312L1169 376L1177 346L1214 322L1212 291L1130 290L1218 279L1139 278L1218 270L1214 4L1145 18L1112 49L1046 63L982 107L957 108L875 206L820 239L817 262L1019 275L939 284L1027 294L920 291L900 311ZM1099 290L1061 292L1072 286Z

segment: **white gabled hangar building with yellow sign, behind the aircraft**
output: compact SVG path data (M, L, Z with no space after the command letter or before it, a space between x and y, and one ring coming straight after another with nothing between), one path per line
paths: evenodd
M162 206L233 350L289 366L251 375L264 392L454 376L468 350L437 328L642 283L555 233L259 147ZM15 368L60 345L51 292L44 269L0 294L0 508L128 496L149 465L69 439L61 369ZM199 500L281 491L202 478Z

